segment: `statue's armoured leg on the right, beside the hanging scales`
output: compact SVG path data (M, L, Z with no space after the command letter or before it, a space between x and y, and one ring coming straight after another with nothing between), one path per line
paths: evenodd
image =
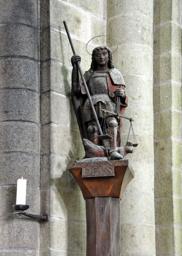
M110 142L110 156L113 160L123 159L117 151L117 122L115 118L108 117L108 134L112 136Z

